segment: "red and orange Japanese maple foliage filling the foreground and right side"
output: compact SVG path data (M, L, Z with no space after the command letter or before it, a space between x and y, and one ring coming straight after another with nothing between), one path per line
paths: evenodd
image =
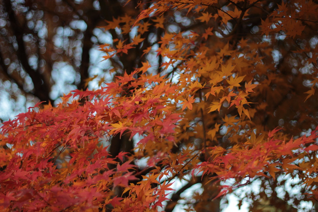
M258 196L246 194L251 211L267 200L286 211L303 199L315 204L317 8L311 0L161 0L106 21L121 38L100 45L103 59L115 64L134 50L141 66L3 123L1 210L172 211L202 183L179 205L217 211L221 197L253 180L261 185ZM115 138L127 138L116 154ZM287 174L305 195L280 204L275 187ZM177 178L188 186L174 191Z

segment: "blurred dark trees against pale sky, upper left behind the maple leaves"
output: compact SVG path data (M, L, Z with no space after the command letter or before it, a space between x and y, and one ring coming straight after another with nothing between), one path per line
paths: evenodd
M94 75L111 80L105 73L113 67L100 63L96 50L111 37L99 27L136 12L136 2L123 7L123 1L1 0L0 118L12 118L37 101L53 104L63 93L86 89L86 80ZM118 64L121 69L135 67Z

